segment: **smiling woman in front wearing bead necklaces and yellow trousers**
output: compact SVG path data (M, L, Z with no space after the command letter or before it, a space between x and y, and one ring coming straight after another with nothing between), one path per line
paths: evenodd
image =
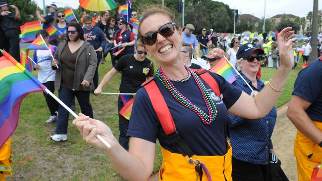
M73 125L84 140L107 153L115 170L127 180L145 181L150 177L158 138L163 156L160 180L199 181L211 177L215 181L231 181L227 113L249 119L267 115L293 66L290 44L294 32L289 32L288 27L279 33L282 65L270 81L271 87L253 98L215 73L198 72L203 77L200 78L185 66L181 54L182 29L174 21L174 16L162 8L146 8L143 13L139 34L160 67L154 79L136 93L127 132L131 136L129 151L122 148L101 121L80 114ZM110 148L96 138L97 134L110 143Z

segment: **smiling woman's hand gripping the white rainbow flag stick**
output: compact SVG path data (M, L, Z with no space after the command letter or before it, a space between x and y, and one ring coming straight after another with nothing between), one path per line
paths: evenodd
M99 120L92 119L82 113L79 113L79 117L73 120L73 125L78 129L79 133L87 143L98 149L111 149L115 143L118 143L116 138L113 136L112 131L106 124ZM111 147L107 148L107 146L100 141L96 135L101 135L111 145Z

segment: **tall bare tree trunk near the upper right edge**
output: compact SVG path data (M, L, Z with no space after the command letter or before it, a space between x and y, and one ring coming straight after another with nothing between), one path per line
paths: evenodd
M311 34L311 46L312 46L312 53L310 55L310 60L309 62L311 62L312 60L315 60L318 58L318 6L319 6L319 1L318 0L313 0L313 22L312 22L312 34Z

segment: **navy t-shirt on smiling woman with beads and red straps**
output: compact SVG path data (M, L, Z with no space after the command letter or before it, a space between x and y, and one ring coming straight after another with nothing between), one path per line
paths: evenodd
M188 144L196 155L224 155L227 152L227 109L229 109L240 97L241 90L226 82L221 76L211 73L216 80L224 102L216 96L214 91L203 81L206 89L215 101L217 116L210 125L202 123L198 115L181 105L173 98L171 93L164 88L160 80L155 76L154 80L169 108L170 114L176 126L179 136ZM193 104L208 114L208 110L197 83L191 77L185 82L172 82L174 87L187 97ZM141 88L134 99L132 114L127 132L128 136L142 138L151 142L159 142L163 148L179 153L173 147L169 138L165 135L156 112L151 104L147 91Z

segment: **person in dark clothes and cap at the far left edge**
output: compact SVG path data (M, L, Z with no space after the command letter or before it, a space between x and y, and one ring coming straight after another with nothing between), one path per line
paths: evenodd
M8 4L6 2L0 2L0 31L1 41L5 39L9 43L9 54L13 56L17 61L20 61L20 49L19 49L19 25L17 19L20 19L20 12L15 5L10 5L14 9L15 13L10 12ZM1 46L6 45L1 42ZM3 48L3 47L2 47Z

